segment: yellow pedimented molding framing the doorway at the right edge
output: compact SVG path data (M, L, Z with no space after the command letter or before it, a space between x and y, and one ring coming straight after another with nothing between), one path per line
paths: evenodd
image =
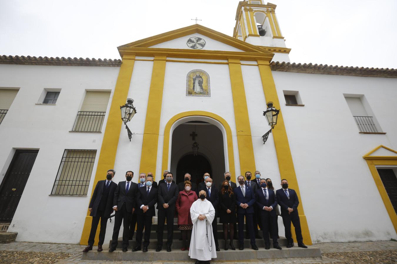
M383 185L382 179L380 179L378 170L376 169L377 165L397 166L397 156L371 156L372 153L374 153L376 150L380 148L385 148L397 154L397 151L380 145L377 148L374 148L373 150L365 154L362 158L364 158L364 160L368 164L372 177L374 178L376 187L378 188L380 197L382 197L383 203L385 204L386 207L386 211L389 214L391 222L393 223L394 230L397 232L397 214L394 211L390 198L387 195L385 186Z

